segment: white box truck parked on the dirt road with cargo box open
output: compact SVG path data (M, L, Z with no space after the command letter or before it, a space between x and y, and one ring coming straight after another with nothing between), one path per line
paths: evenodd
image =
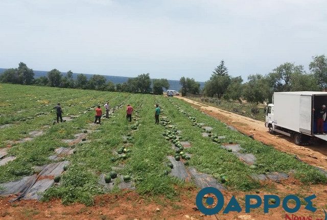
M314 109L318 111L322 105L327 105L327 92L274 92L272 104L265 109L265 126L269 133L292 137L298 145L314 137L327 141L327 135L316 134Z

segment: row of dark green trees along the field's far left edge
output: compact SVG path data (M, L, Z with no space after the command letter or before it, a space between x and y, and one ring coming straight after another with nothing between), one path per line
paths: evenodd
M6 69L0 75L0 82L22 85L51 86L60 88L94 89L100 91L118 91L132 93L154 93L163 94L164 88L169 89L167 79L150 79L149 74L141 74L135 78L129 78L127 82L114 84L107 81L104 76L93 75L90 79L83 74L78 74L73 79L73 72L67 71L63 76L58 69L52 69L46 76L34 78L33 69L28 68L25 63L20 62L17 68Z

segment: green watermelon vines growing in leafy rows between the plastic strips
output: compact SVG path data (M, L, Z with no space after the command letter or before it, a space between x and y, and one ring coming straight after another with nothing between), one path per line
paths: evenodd
M92 128L98 130L97 132L87 133L87 140L90 142L74 146L76 153L64 158L69 160L70 164L61 175L60 184L48 189L43 195L43 200L59 198L67 205L74 202L93 205L95 195L107 192L99 184L100 174L108 174L119 166L122 169L118 173L130 175L136 191L152 198L153 201L162 196L173 201L178 199L181 192L192 189L194 184L184 183L166 175L166 172L170 171L167 166L169 161L167 156L173 156L175 152L171 148L171 142L162 136L167 129L154 124L155 103L159 103L164 110L161 117L167 116L171 120L171 125L181 131L180 138L191 143L192 147L184 150L192 155L190 166L195 167L198 172L212 175L218 181L220 175L226 176L227 182L224 186L229 190L247 191L263 188L269 190L267 186L262 186L260 182L250 177L253 174L268 172L293 173L296 179L308 185L327 182L327 178L316 168L296 160L293 155L279 152L272 146L231 131L220 121L175 98L0 84L0 100L1 123L13 124L11 127L1 129L0 147L5 147L7 140L28 136L29 131L44 132L42 136L31 141L12 146L9 155L17 158L0 166L0 183L32 175L35 173L33 166L51 163L48 157L54 154L54 150L61 146L68 146L61 141L62 139L74 138L74 135L83 129L89 129L88 124L94 119L94 111L85 114L80 112L98 103L103 105L106 101L109 101L110 106L124 103L124 107L115 110L111 118L103 120L101 126ZM26 103L22 105L21 100ZM80 116L72 121L52 125L55 113L51 111L57 102L62 103L65 114ZM133 113L135 120L131 123L125 118L126 104L131 104L135 109ZM26 111L16 115L18 109ZM39 112L49 114L35 116L25 121L20 120ZM10 117L11 114L13 117ZM220 144L213 142L211 138L202 137L203 129L193 126L193 121L187 114L196 117L199 123L213 127L214 133L226 136L222 143L240 144L247 153L252 153L257 158L257 163L261 166L250 169L234 154L220 148ZM137 129L132 130L132 125L136 124ZM44 125L50 127L44 128ZM127 140L126 144L123 136L128 134L131 139ZM120 158L117 154L123 146L131 151L126 154L126 159ZM115 186L110 193L119 192L120 189Z

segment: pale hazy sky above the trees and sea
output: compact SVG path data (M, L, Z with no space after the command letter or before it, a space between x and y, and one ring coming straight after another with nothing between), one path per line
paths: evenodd
M206 81L308 70L327 52L327 1L0 0L0 68ZM326 54L327 55L327 54Z

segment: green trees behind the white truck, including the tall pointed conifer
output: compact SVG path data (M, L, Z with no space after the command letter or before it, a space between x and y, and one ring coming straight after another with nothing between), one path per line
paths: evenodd
M205 82L202 91L192 90L189 86L192 83L188 84L185 78L180 79L180 84L182 95L186 94L185 91L193 94L202 92L209 97L217 96L219 99L239 102L246 100L259 104L271 102L274 92L324 91L327 88L327 57L312 57L309 71L306 72L302 65L287 62L277 66L269 74L250 75L248 81L243 83L241 76L228 75L228 69L222 60L212 72L211 78Z

